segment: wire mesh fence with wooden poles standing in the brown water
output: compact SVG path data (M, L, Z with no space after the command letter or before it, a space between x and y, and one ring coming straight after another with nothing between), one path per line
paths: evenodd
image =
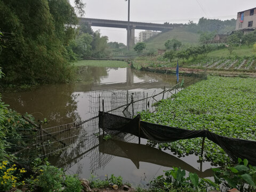
M89 110L91 118L86 121L44 128L35 125L34 135L24 133L24 137L32 145L13 150L13 153L21 156L49 157L54 164L66 167L73 166L85 155L90 157L91 170L104 167L113 156L99 153L100 137L104 134L99 128L99 110L132 118L142 110L154 112L152 104L171 97L183 87L205 79L205 76L195 78L187 76L172 87L159 87L159 89L140 90L104 90L89 92ZM23 134L23 133L22 133ZM111 133L116 134L116 133ZM127 133L118 133L119 139L126 142L137 142L137 137L131 137ZM33 136L33 137L32 137ZM33 159L33 158L31 158Z

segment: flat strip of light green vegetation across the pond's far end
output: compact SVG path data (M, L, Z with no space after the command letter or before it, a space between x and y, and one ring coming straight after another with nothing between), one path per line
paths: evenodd
M128 67L125 61L114 60L81 60L74 63L75 66L93 66L93 67Z

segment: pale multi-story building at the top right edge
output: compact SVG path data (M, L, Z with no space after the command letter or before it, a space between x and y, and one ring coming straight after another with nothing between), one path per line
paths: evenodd
M236 30L256 29L256 7L237 13Z

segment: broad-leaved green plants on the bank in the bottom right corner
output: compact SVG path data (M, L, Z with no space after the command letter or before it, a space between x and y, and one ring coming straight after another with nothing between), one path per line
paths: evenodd
M236 188L239 191L255 191L256 167L248 165L247 159L238 158L235 166L226 166L223 169L214 168L214 182L210 179L199 178L196 173L189 173L186 178L185 170L173 167L173 170L164 171L150 182L150 191L227 191ZM146 190L142 190L146 191Z

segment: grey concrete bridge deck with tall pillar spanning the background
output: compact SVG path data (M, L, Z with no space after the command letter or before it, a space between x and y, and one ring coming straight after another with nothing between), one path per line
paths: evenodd
M90 26L97 27L113 27L113 28L124 28L128 30L128 21L118 21L118 20L107 20L107 19L91 19L91 18L79 18L79 22L87 22ZM129 32L127 31L127 46L132 47L134 45L134 30L172 30L173 27L169 25L159 24L159 23L146 23L146 22L133 22L129 21Z

